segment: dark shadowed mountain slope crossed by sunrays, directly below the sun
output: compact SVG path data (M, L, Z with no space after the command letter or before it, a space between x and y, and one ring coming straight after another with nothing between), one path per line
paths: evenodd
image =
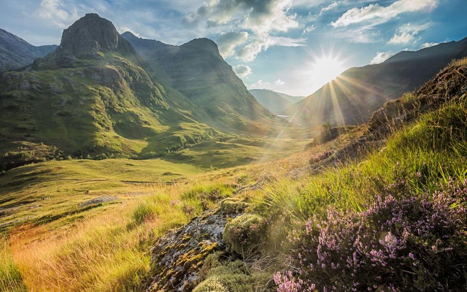
M400 52L380 64L348 69L284 113L300 123L360 124L386 101L413 91L464 56L467 38Z

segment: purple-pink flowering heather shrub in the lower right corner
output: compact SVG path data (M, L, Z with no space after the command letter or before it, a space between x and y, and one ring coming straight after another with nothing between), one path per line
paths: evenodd
M277 291L467 291L467 180L423 197L404 185L364 212L309 219Z

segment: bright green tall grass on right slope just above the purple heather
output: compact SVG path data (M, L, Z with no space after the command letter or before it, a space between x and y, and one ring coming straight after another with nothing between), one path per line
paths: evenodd
M433 191L449 177L467 177L467 101L451 101L441 109L422 115L415 123L396 131L386 147L355 163L330 167L301 180L287 177L265 184L254 198L266 214L284 213L306 220L324 214L327 206L361 211L374 194L401 177L408 176L411 191ZM417 173L423 180L416 178Z

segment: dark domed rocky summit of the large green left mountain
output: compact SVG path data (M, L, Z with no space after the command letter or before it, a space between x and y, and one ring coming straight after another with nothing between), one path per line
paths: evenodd
M72 55L117 51L120 39L111 21L89 13L63 31L60 47Z

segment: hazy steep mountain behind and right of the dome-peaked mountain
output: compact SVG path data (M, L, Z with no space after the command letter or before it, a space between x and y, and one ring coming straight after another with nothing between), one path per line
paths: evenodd
M267 131L276 119L247 90L214 41L193 39L180 46L122 35L153 69L154 76L203 109L215 126L227 131Z

